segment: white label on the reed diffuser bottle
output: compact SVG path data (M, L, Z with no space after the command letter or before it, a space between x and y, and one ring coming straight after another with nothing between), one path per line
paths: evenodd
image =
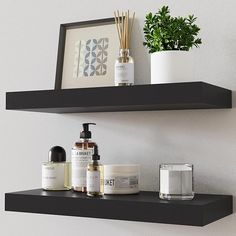
M133 63L115 63L115 85L119 85L119 83L134 83Z

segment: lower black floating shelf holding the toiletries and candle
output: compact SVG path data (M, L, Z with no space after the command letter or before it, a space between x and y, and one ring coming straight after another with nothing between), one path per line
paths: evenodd
M40 214L204 226L233 212L229 195L196 194L192 201L164 201L157 192L90 198L41 189L6 193L5 210Z

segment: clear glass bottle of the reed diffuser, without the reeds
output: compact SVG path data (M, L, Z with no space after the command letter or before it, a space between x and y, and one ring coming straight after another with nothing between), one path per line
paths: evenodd
M129 49L120 49L120 55L115 62L115 85L129 86L134 84L134 60L129 55Z

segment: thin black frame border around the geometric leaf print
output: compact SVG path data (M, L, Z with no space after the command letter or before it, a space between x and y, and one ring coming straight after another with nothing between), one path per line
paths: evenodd
M56 64L56 76L55 76L55 90L60 90L62 85L62 73L63 73L63 64L64 64L64 54L65 54L65 41L66 41L66 32L68 29L75 28L84 28L91 26L101 26L115 24L114 17L104 18L97 20L89 20L82 22L73 22L60 25L59 32L59 43L58 43L58 53L57 53L57 64Z

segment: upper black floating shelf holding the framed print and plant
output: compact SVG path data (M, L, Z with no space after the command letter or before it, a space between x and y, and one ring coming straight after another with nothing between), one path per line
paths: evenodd
M8 92L6 109L48 113L232 107L232 92L204 82Z

